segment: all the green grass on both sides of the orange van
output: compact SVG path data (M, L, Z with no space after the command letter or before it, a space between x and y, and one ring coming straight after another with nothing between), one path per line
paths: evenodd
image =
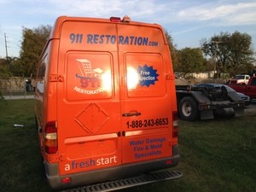
M34 100L0 102L0 191L50 191L43 178ZM256 113L233 119L179 121L176 180L124 191L250 192L256 189ZM14 124L25 127L14 127Z

